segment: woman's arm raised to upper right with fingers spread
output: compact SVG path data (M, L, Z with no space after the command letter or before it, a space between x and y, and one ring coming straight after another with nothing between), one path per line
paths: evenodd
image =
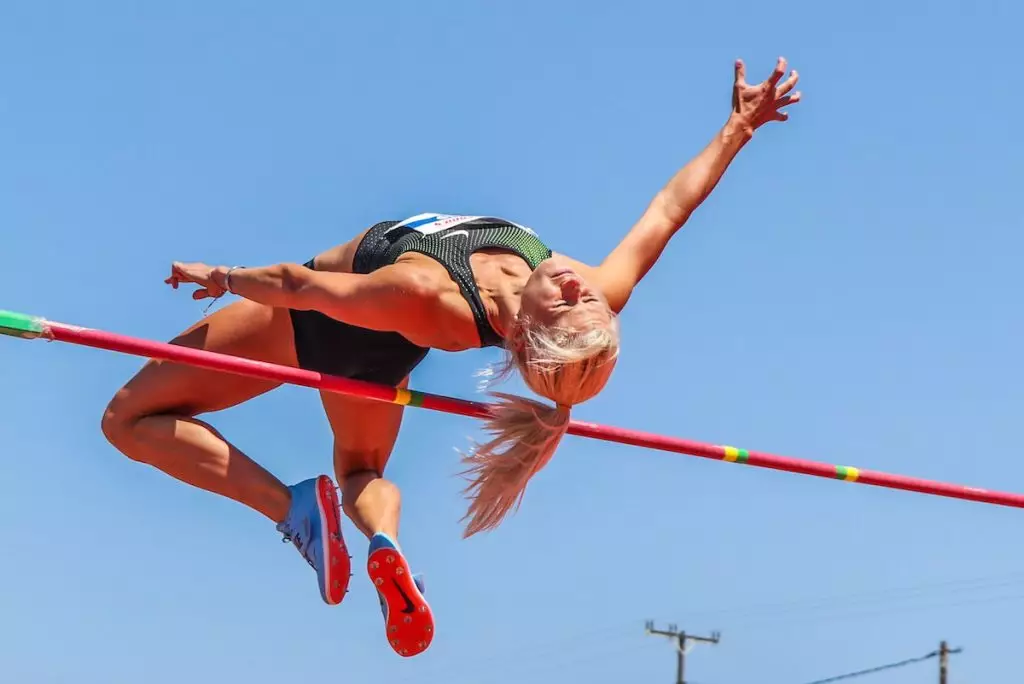
M785 60L779 57L766 81L748 85L743 62L736 61L732 113L725 126L673 176L626 238L593 271L594 285L601 289L614 311L626 306L633 289L653 267L672 237L715 189L754 131L769 121L787 119L781 109L799 101L800 93L788 94L797 84L797 72L791 72L790 78L779 83L784 74Z

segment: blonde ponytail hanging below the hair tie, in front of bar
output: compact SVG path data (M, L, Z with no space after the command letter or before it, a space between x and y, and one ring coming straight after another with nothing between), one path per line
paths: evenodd
M526 484L555 455L569 426L569 408L495 392L497 401L484 421L494 438L475 444L464 456L470 480L465 494L471 500L463 520L464 538L494 529L509 511L518 509Z

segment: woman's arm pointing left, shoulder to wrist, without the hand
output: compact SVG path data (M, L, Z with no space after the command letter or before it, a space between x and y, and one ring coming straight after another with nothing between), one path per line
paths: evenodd
M352 326L407 337L422 338L433 325L435 284L408 264L370 273L318 271L293 263L228 270L215 268L214 282L261 304L321 311Z

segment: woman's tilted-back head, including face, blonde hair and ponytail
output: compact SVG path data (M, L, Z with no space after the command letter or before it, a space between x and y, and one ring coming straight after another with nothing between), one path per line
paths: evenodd
M618 319L604 296L557 257L542 262L522 290L506 340L501 375L516 369L555 405L495 393L485 430L490 441L466 456L471 503L465 536L497 527L522 501L529 478L547 465L569 424L569 409L607 383L618 355Z

